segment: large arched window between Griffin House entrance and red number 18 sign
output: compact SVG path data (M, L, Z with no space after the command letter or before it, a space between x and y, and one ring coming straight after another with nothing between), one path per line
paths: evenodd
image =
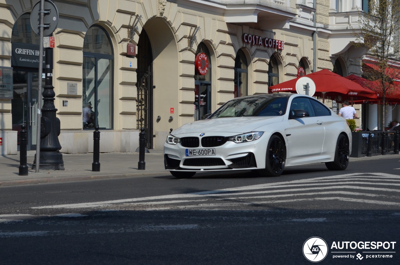
M100 26L86 32L83 43L83 127L111 129L113 117L113 61L110 38Z

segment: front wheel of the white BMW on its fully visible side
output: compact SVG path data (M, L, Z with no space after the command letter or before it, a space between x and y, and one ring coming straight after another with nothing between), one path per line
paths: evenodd
M260 169L263 177L279 177L286 162L285 143L277 135L272 135L268 141L267 152L265 156L265 169Z

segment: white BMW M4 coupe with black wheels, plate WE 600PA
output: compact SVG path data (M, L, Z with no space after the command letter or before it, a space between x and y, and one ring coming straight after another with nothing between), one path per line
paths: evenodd
M285 167L309 163L345 170L351 145L346 120L315 98L259 94L234 98L207 118L171 131L164 164L177 178L238 170L276 177Z

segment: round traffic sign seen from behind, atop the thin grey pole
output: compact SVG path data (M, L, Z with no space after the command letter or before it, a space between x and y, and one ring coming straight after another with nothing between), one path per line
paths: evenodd
M40 35L39 25L40 25L40 1L37 2L30 13L30 26L32 30ZM50 0L44 0L44 10L50 13L44 13L44 25L48 27L43 28L43 36L50 36L56 29L58 24L58 10L56 5Z

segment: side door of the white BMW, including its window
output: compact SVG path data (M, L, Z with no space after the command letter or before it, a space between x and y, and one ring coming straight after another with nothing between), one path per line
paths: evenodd
M291 118L292 110L306 110L308 117ZM315 116L310 98L296 97L290 104L290 129L286 130L288 139L288 159L320 155L324 144L325 129L322 119Z

